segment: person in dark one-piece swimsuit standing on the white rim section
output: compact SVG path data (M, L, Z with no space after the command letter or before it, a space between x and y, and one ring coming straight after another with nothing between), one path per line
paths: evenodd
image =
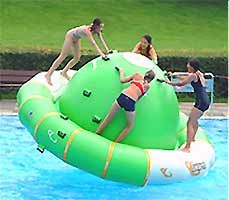
M185 147L182 149L184 152L190 152L191 142L195 141L195 135L198 130L198 119L203 115L203 113L209 108L210 100L208 98L203 73L200 71L200 63L196 59L190 59L187 64L188 72L190 75L183 78L179 82L172 82L166 80L165 82L170 85L183 86L185 84L191 83L194 93L196 95L195 105L191 110L189 119L187 122L187 142ZM168 75L173 76L171 72ZM182 78L181 76L174 76L177 78Z

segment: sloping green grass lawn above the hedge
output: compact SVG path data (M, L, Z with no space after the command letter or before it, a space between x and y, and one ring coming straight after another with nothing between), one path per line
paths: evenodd
M68 29L99 16L111 49L129 51L148 33L159 55L227 55L222 0L0 0L0 5L2 52L58 52ZM82 46L93 49L86 39Z

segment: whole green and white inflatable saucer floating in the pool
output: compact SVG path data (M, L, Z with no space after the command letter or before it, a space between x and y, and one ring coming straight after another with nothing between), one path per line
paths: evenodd
M136 104L134 129L115 143L125 125L124 112L116 115L102 135L95 134L121 84L115 66L125 74L144 74L151 68L156 78L163 71L148 58L129 52L100 57L79 71L70 70L67 81L55 71L53 86L41 72L17 94L19 118L38 143L64 162L104 179L143 186L147 182L171 183L207 174L215 153L205 131L199 128L191 152L179 151L186 139L187 116L179 111L172 86L156 79Z

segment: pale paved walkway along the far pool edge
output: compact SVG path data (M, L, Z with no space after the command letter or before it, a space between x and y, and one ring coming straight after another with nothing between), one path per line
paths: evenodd
M183 113L189 114L192 109L193 103L180 103L180 109ZM18 107L16 100L0 100L0 114L3 115L16 115ZM204 118L229 118L228 117L228 104L214 103L211 108L204 114Z

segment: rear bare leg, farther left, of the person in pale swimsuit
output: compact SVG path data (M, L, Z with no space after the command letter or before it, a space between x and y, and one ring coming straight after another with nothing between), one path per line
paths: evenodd
M52 76L53 72L57 69L57 67L60 65L60 63L68 55L68 51L69 51L71 45L72 45L72 36L69 33L67 33L65 36L63 48L60 52L60 55L53 62L52 66L49 68L48 72L45 74L45 78L46 78L48 84L52 85L51 76Z

